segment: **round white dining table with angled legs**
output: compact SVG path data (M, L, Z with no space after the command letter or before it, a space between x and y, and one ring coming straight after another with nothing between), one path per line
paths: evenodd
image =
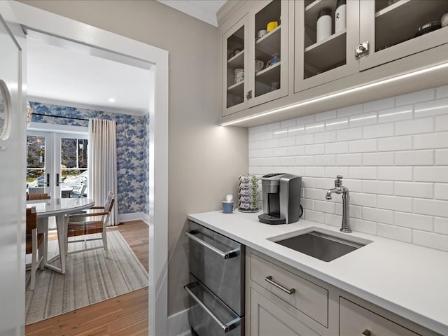
M88 198L54 198L48 200L32 200L27 201L27 208L36 207L38 230L45 232L45 251L48 251L48 217L55 216L57 228L57 241L59 245L59 255L56 255L52 260L47 260L47 255L44 255L45 267L56 272L65 274L66 265L66 251L64 237L66 235L66 226L68 223L69 214L74 212L89 209L94 206L94 200ZM50 262L59 257L61 267L52 265Z

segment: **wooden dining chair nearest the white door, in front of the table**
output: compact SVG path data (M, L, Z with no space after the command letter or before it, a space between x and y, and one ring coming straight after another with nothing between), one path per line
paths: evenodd
M43 269L43 259L46 255L45 244L42 244L44 240L45 233L37 232L36 208L27 208L26 254L31 253L31 267L29 268L31 269L30 290L34 290L36 286L36 270L39 265Z

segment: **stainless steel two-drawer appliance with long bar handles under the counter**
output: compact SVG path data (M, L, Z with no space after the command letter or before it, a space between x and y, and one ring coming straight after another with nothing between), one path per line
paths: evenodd
M190 222L188 318L193 335L244 335L245 246Z

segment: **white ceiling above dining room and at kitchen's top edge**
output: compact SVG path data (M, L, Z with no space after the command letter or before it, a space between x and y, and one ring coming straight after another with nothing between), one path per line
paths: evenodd
M158 0L217 26L216 13L225 0ZM150 71L99 56L92 48L73 48L67 41L28 31L27 92L30 101L72 107L125 111L149 110ZM61 40L62 41L62 40Z

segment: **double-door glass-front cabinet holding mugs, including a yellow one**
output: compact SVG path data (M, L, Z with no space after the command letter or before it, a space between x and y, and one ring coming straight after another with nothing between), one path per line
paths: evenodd
M237 13L220 26L222 116L288 94L288 1L246 1Z

